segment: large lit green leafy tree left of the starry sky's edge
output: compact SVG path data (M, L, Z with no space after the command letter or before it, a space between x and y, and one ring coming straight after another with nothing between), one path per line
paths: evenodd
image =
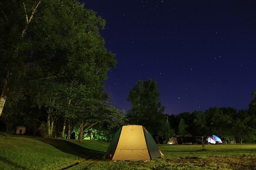
M84 10L84 6L78 2L50 2L50 7L47 6L47 10L40 13L41 17L38 18L38 23L44 23L43 27L46 27L41 32L46 38L37 37L36 42L39 44L35 53L38 56L35 57L36 61L42 58L40 54L44 49L40 46L48 44L45 48L48 49L47 63L50 64L43 61L47 66L43 69L47 70L44 77L55 78L61 84L59 91L62 94L62 108L59 109L64 113L64 132L65 120L76 118L74 114L80 113L73 112L74 108L70 105L80 107L84 101L89 101L93 106L93 101L107 100L104 80L107 78L107 71L116 65L116 60L114 54L104 48L104 39L99 34L99 29L105 26L103 19L96 17L95 12L91 10ZM40 68L42 63L39 62L38 65ZM88 110L93 112L92 108ZM85 113L90 115L88 110ZM89 122L84 125L88 125L86 128L91 127Z

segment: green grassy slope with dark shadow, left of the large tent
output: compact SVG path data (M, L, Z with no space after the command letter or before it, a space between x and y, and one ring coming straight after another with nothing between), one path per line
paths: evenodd
M0 170L59 170L102 160L108 143L0 133Z

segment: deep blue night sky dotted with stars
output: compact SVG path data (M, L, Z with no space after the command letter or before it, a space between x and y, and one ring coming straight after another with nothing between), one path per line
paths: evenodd
M165 114L248 109L256 90L254 0L80 0L106 20L100 31L118 64L106 92L130 109L138 80L158 84Z

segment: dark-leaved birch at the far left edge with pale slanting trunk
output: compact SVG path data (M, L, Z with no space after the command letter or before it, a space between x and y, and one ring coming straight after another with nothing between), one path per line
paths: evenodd
M21 97L20 83L27 67L27 53L31 45L26 34L40 3L41 0L0 2L0 116L7 96L16 100Z

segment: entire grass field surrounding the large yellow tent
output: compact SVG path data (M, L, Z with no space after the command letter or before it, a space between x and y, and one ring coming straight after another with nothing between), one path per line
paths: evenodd
M2 170L176 170L256 169L256 145L158 145L163 158L152 161L104 160L102 141L33 138L0 133Z

